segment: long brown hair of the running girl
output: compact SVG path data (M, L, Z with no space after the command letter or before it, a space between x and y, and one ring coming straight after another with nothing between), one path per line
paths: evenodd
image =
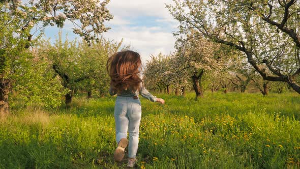
M142 82L139 76L141 69L139 53L131 50L114 53L106 63L106 70L111 78L110 85L117 93L122 90L138 90Z

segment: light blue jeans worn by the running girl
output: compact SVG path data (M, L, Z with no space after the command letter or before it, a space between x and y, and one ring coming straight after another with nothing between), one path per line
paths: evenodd
M116 97L114 105L116 143L121 138L127 138L127 132L129 132L129 158L135 158L136 156L141 116L142 110L139 99L125 96Z

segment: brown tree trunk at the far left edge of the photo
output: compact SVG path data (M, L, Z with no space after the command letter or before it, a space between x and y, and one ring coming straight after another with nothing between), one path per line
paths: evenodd
M0 115L9 114L8 94L11 91L8 80L0 82Z

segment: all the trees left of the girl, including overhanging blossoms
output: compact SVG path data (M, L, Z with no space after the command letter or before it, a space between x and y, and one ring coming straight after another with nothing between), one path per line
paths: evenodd
M66 104L72 91L84 88L89 95L107 83L105 62L120 43L102 39L99 34L109 27L112 19L106 9L109 1L25 1L0 2L0 114L9 112L13 93L26 104L44 103L46 106ZM73 32L83 42L55 44L42 40L48 25L63 27L73 23Z

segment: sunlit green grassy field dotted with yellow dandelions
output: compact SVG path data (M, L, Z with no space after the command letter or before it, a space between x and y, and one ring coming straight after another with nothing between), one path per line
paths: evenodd
M300 96L206 94L141 99L138 168L299 168ZM123 168L113 97L74 98L71 110L18 108L0 120L0 168Z

